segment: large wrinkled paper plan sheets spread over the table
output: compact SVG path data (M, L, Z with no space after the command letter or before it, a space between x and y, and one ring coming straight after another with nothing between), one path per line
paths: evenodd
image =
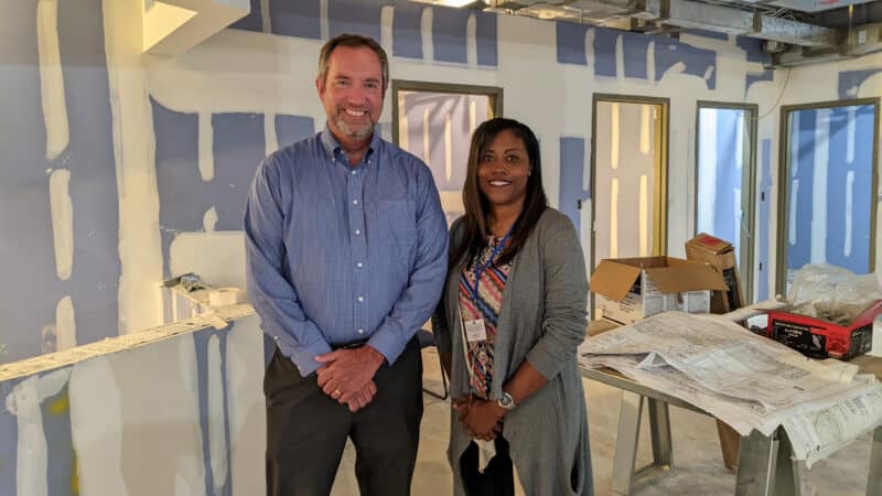
M808 466L882 423L872 375L811 360L719 315L654 315L585 339L579 360L687 401L742 435L783 425Z

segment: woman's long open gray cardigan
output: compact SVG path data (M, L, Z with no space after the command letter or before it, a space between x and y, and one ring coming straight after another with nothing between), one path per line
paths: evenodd
M462 242L463 219L451 226L451 252ZM451 260L443 296L432 319L441 353L452 353L450 392L469 392L459 317L459 280L464 260ZM528 496L588 496L594 493L582 377L577 348L585 336L588 282L579 237L570 219L547 208L517 252L503 291L494 343L491 396L526 359L548 384L509 411L503 436ZM451 413L448 456L453 493L465 495L460 457L471 442Z

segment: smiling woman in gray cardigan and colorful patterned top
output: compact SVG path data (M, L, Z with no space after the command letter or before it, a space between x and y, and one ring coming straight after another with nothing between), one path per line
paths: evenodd
M463 203L433 317L454 398L454 494L513 495L514 465L529 496L591 495L584 258L572 223L547 206L528 127L496 118L475 130Z

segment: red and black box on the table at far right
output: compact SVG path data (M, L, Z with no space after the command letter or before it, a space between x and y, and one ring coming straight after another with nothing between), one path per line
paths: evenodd
M882 300L841 324L785 311L768 312L768 336L811 358L851 359L873 344L873 321L882 314Z

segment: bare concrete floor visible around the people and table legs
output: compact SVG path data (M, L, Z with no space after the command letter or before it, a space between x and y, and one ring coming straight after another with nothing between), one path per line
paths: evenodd
M441 375L434 349L423 351L423 385L431 390L441 391ZM621 391L589 380L584 380L583 384L591 432L591 457L594 464L594 494L615 495L610 488L610 478ZM445 457L450 402L429 395L424 395L424 402L412 494L450 495L452 476ZM646 417L644 414L644 418ZM675 468L653 483L638 487L635 494L641 496L734 494L735 474L723 465L713 419L676 407L671 407L670 417ZM803 496L813 494L862 496L867 485L870 442L871 434L865 434L830 459L815 464L804 483ZM637 464L642 466L652 461L648 427L645 424L641 432L639 446ZM353 471L354 460L354 450L348 445L332 496L358 495Z

